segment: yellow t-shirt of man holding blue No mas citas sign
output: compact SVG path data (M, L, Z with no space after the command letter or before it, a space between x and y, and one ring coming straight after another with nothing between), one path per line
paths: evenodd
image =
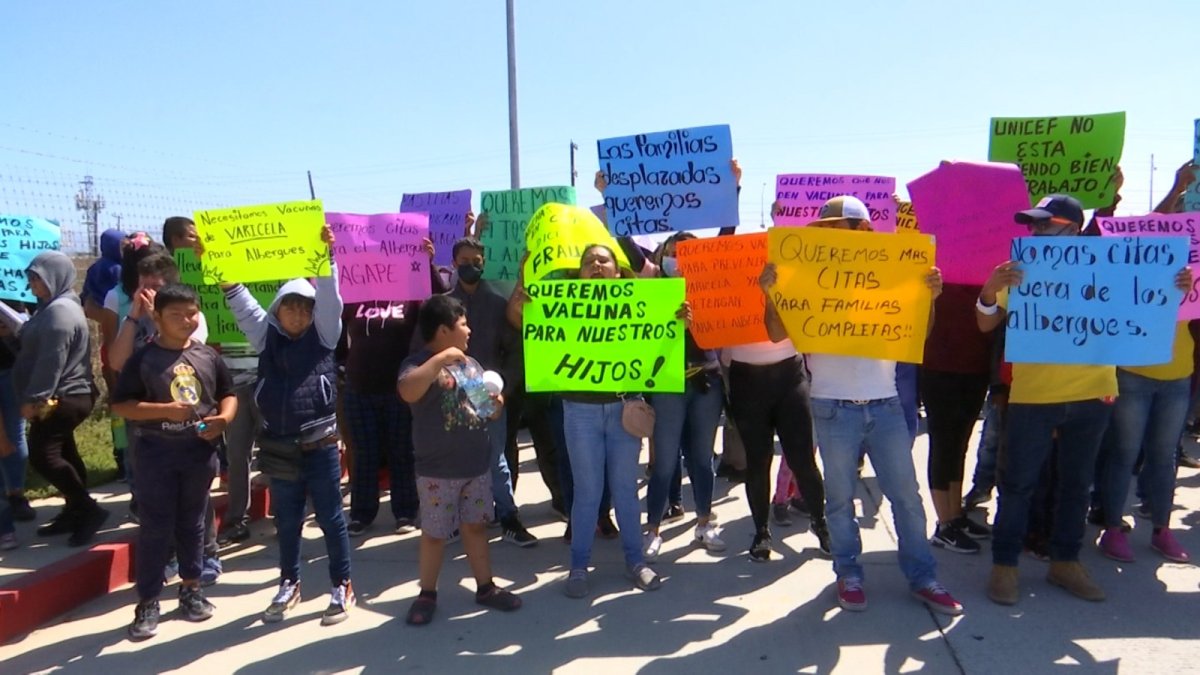
M996 293L1008 309L1008 289ZM1117 395L1117 369L1111 365L1014 363L1010 404L1067 404Z

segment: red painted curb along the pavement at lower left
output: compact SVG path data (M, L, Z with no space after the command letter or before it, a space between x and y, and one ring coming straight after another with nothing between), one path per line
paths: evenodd
M250 519L265 518L270 509L266 486L253 485L250 495ZM218 528L227 502L224 496L215 500ZM132 530L0 586L0 644L132 581L136 543L137 530Z

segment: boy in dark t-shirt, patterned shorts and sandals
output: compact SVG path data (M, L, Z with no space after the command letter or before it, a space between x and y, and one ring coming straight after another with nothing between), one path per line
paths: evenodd
M400 396L413 410L421 504L420 595L407 621L422 626L433 619L442 554L455 530L462 532L479 589L475 602L515 610L521 599L493 583L487 555L487 522L492 519L487 423L504 413L504 399L499 393L478 395L482 369L466 354L470 328L462 303L448 295L430 298L421 306L418 325L427 348L404 360L397 384Z

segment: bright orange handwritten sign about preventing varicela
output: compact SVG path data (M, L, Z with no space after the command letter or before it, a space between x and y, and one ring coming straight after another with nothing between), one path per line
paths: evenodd
M758 287L767 264L766 232L679 241L676 257L688 282L691 336L701 348L768 340Z

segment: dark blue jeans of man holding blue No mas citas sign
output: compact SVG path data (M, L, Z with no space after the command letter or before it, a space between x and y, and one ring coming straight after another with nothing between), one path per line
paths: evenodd
M1038 479L1058 432L1050 557L1079 560L1087 516L1088 488L1100 438L1112 406L1099 399L1067 404L1008 404L1008 442L1000 467L1000 507L992 530L991 558L1016 566L1030 525ZM1046 467L1049 468L1049 467Z

